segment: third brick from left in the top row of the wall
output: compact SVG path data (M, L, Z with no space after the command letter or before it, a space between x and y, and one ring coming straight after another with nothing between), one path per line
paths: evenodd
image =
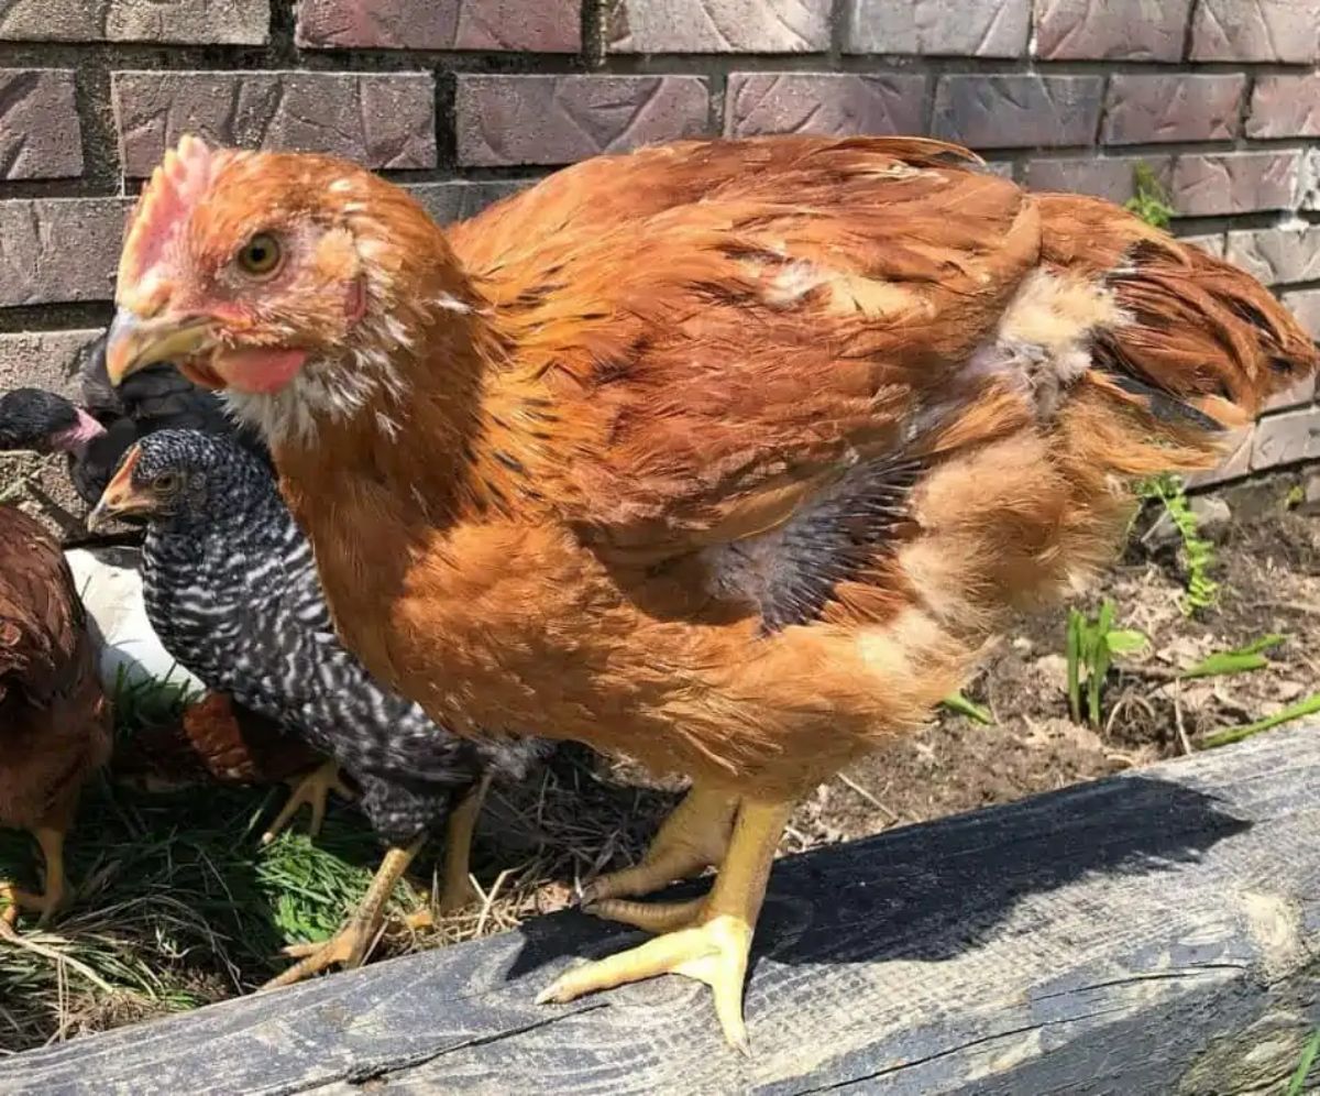
M615 0L612 53L822 53L830 0Z

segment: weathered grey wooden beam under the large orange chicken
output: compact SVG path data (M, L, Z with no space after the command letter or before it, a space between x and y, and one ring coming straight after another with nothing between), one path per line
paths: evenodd
M1320 1023L1320 726L776 866L754 1056L577 914L0 1064L3 1093L1232 1093Z

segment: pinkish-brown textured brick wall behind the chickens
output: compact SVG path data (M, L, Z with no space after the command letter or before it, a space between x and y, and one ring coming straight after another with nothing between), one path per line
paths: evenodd
M0 0L0 386L65 384L183 131L351 156L463 217L698 133L927 132L1123 201L1320 334L1320 0ZM1313 387L1220 474L1320 457Z

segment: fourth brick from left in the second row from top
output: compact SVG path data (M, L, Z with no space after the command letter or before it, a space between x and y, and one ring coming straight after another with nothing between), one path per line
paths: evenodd
M925 77L734 73L725 136L756 133L916 133Z

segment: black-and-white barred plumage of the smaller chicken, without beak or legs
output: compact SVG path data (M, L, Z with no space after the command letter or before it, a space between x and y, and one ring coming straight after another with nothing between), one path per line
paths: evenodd
M381 839L437 827L487 765L521 775L537 745L454 737L339 644L312 545L257 458L197 430L160 430L139 452L135 487L176 482L156 489L143 551L152 627L209 688L334 755Z

